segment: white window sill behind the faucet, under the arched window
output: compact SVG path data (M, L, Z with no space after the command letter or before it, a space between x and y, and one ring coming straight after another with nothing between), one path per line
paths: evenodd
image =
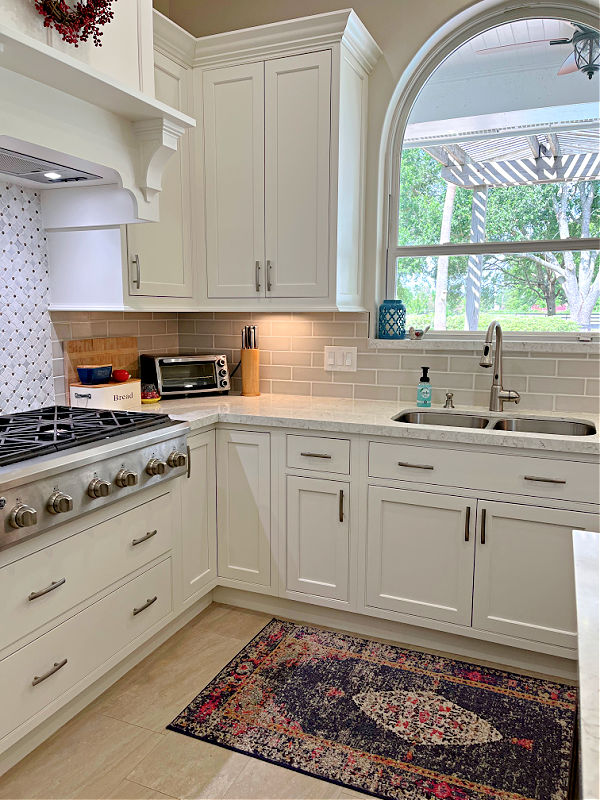
M408 350L422 352L431 350L479 350L484 342L484 331L468 334L425 334L423 339L373 339L369 348L373 350ZM565 337L505 333L502 349L507 353L564 353L566 355L597 356L600 354L600 336L591 334L591 341L581 342L576 336Z

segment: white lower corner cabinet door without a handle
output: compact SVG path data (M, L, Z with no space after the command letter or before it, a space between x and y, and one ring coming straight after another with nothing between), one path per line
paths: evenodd
M268 433L217 431L218 572L271 585Z

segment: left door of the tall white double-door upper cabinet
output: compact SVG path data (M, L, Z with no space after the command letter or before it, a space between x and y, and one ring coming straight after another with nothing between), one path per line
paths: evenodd
M264 297L264 65L203 75L209 297Z

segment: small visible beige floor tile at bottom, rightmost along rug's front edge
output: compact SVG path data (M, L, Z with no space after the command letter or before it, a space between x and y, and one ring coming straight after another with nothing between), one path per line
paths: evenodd
M335 800L340 791L341 787L333 783L249 758L224 797L231 800Z

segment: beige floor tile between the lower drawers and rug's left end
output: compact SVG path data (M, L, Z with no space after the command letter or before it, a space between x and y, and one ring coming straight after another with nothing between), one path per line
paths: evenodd
M210 631L163 646L99 697L94 710L164 732L241 647L237 639Z

